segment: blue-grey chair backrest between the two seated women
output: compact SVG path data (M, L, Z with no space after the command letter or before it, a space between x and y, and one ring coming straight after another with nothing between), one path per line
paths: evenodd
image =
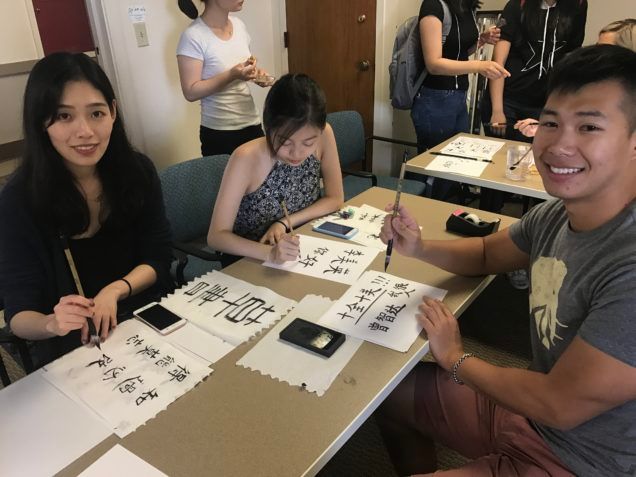
M174 239L189 242L208 232L227 154L174 164L159 173Z

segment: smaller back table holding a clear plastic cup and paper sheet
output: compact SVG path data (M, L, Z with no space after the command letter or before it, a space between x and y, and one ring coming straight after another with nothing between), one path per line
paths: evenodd
M442 172L432 171L426 169L426 167L438 156L431 154L433 151L441 151L444 146L458 138L459 136L474 137L481 139L488 139L493 141L500 141L504 143L504 146L497 151L493 157L493 162L488 164L484 169L484 172L479 176L468 176L464 174L458 174L456 172ZM448 141L444 141L440 145L432 148L429 151L425 151L422 154L415 156L413 159L406 163L406 170L415 172L417 174L424 174L431 177L439 177L441 179L449 179L452 181L463 182L464 184L471 184L479 187L488 187L489 189L500 190L503 192L510 192L513 194L519 194L526 197L535 197L537 199L551 199L552 197L545 191L543 187L543 181L538 173L527 174L523 181L513 181L506 177L506 148L511 145L525 145L527 143L509 140L499 140L497 138L485 138L484 136L477 136L475 134L459 133L450 138Z

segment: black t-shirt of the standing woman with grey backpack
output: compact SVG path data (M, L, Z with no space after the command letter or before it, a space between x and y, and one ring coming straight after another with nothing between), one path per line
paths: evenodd
M419 20L432 15L444 24L444 9L441 0L423 0L420 6ZM479 30L473 16L473 11L464 6L460 15L451 13L452 26L446 42L442 46L442 57L449 60L468 60L470 50L479 38ZM459 25L459 26L458 26ZM429 74L424 80L424 86L432 89L468 89L468 75L444 76Z

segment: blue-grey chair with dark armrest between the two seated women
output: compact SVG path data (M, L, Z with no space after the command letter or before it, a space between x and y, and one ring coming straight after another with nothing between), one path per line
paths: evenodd
M174 270L178 285L222 268L221 254L207 246L207 234L229 158L227 154L201 157L159 173L178 259Z

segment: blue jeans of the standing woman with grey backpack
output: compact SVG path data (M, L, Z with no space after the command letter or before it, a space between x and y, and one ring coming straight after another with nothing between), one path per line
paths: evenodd
M437 146L459 132L468 132L466 91L423 86L413 100L411 119L417 135L418 153ZM447 199L455 185L453 181L435 179L430 197Z

